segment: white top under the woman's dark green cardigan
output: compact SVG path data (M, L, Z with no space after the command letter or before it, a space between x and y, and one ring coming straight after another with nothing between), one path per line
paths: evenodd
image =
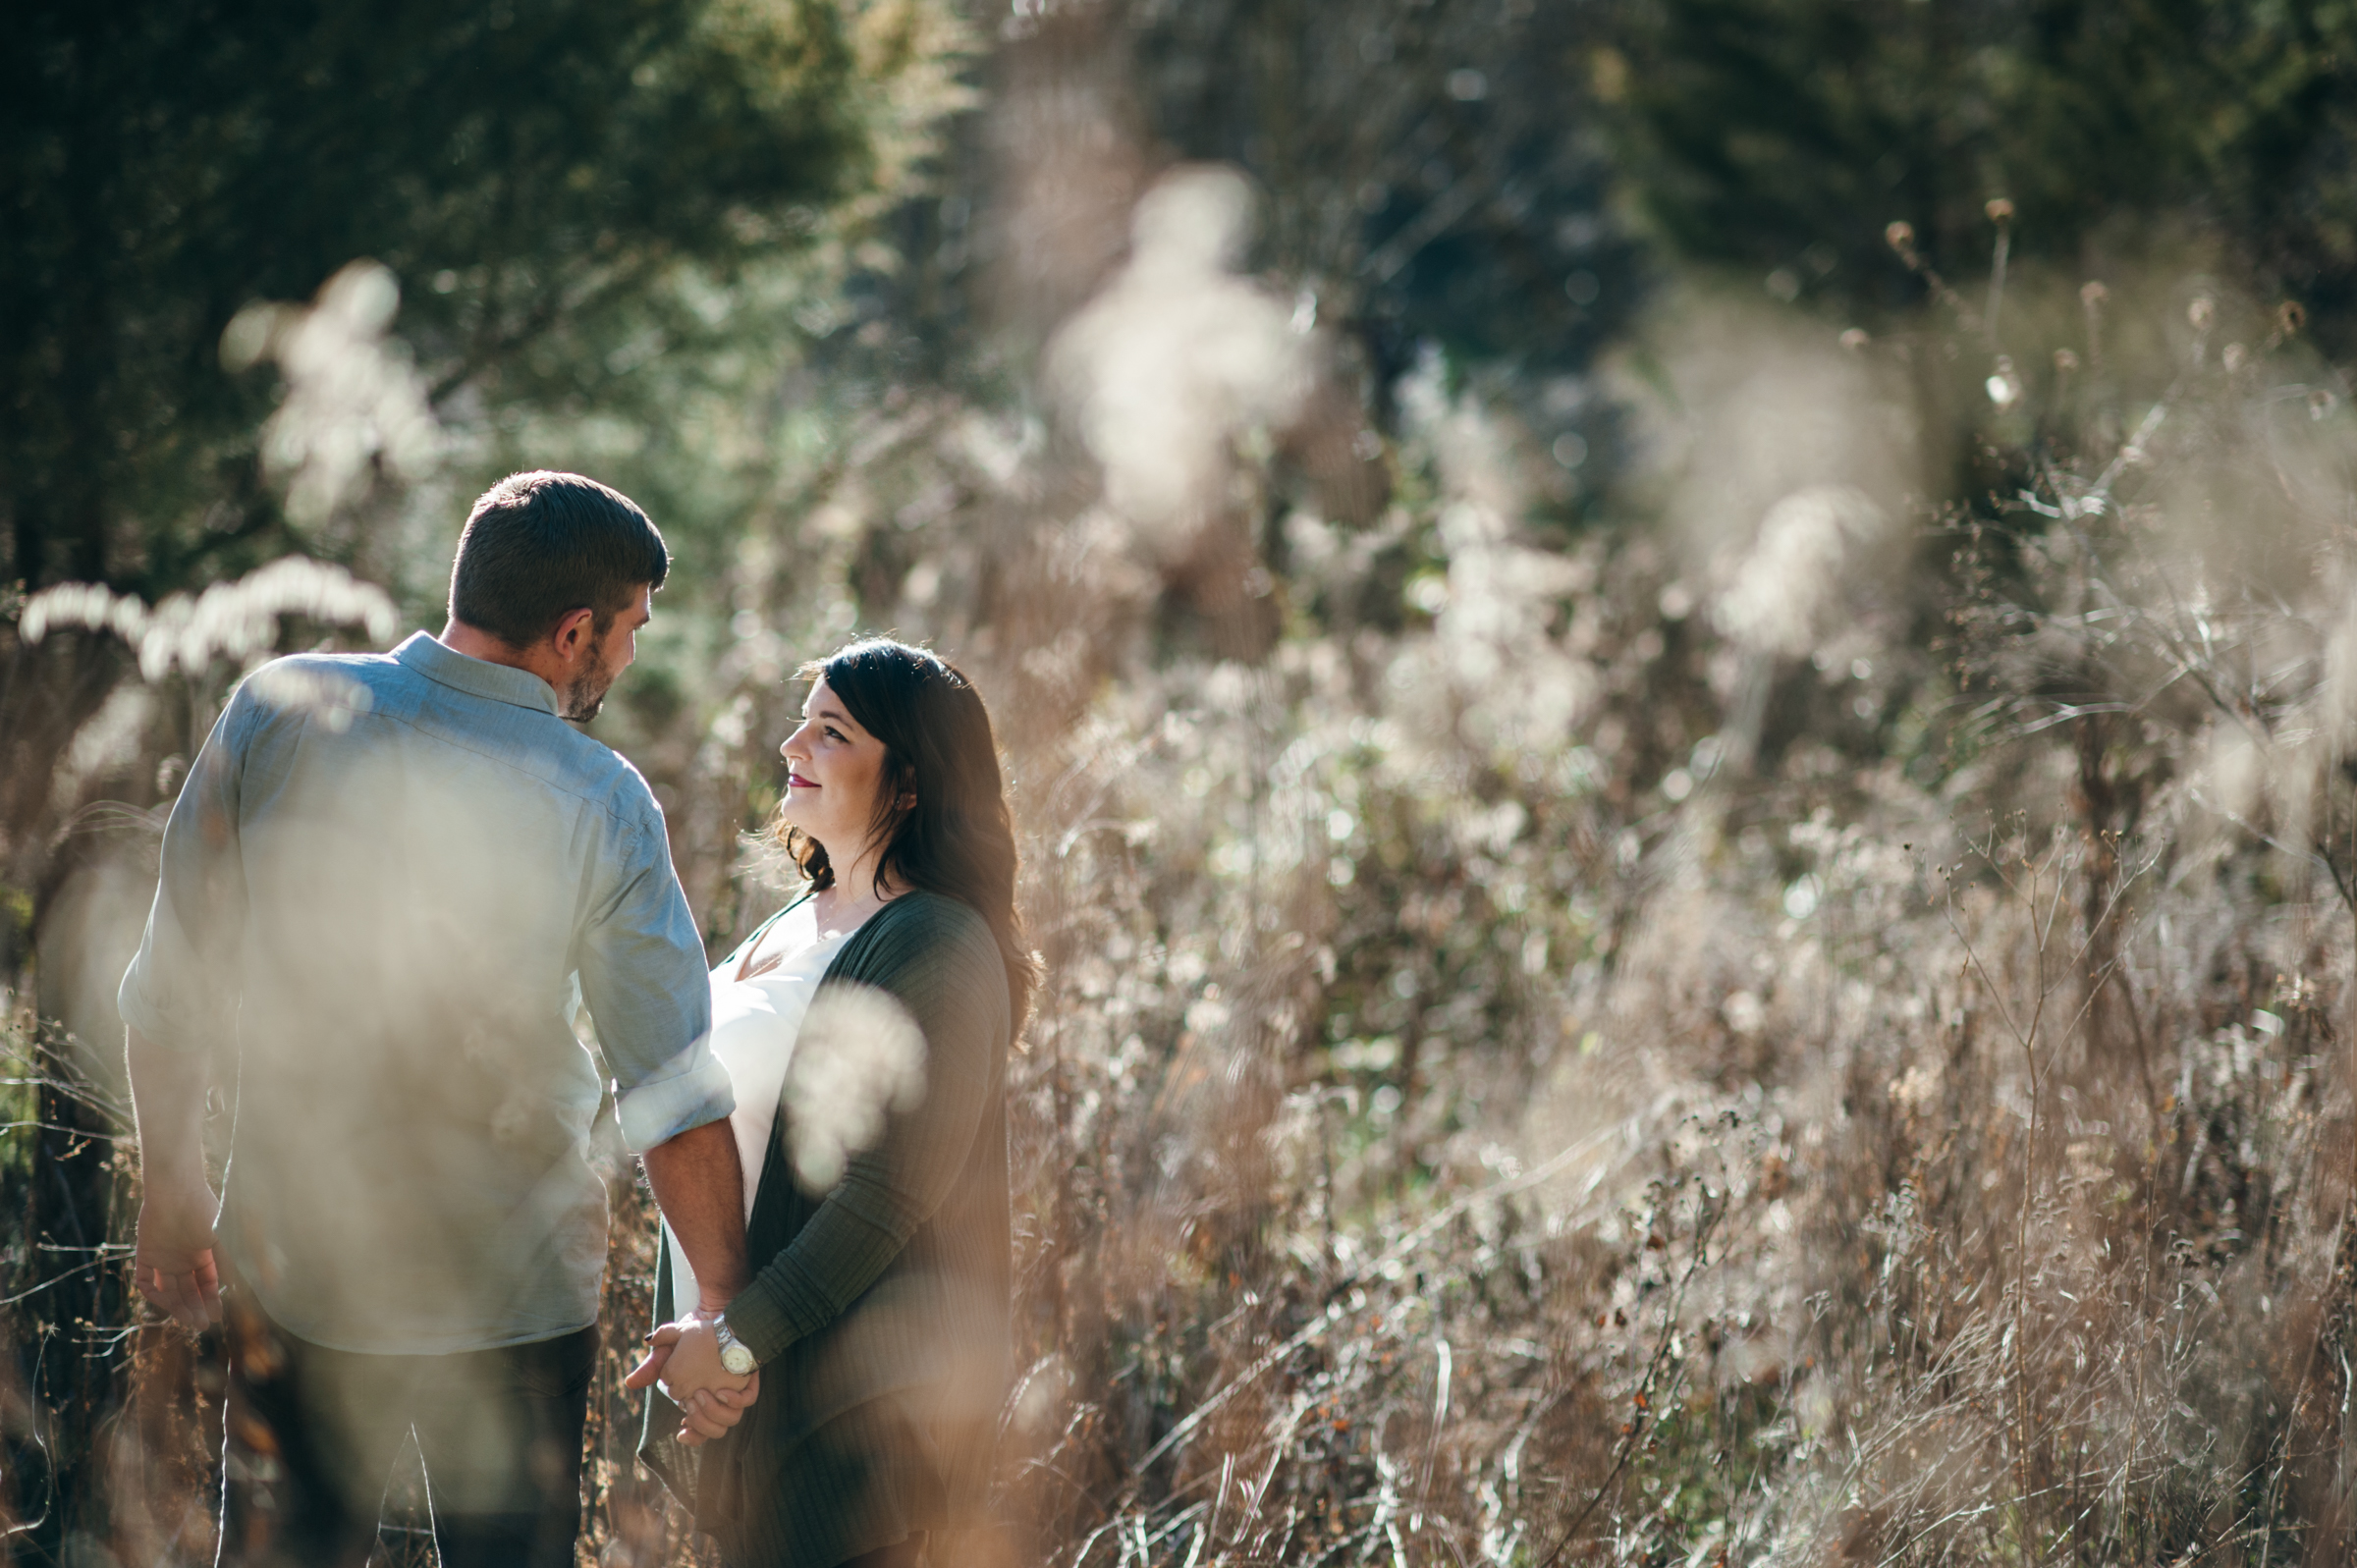
M745 1224L752 1224L752 1200L761 1191L761 1160L768 1155L771 1127L778 1125L801 1014L808 1012L827 964L858 929L820 936L818 910L804 898L761 934L761 946L783 955L775 964L740 981L735 971L750 953L738 950L712 971L712 1056L728 1068L728 1080L735 1085L728 1127L735 1132L738 1162L745 1167ZM662 1243L672 1250L672 1311L684 1313L695 1302L695 1271L688 1269L688 1254L681 1252L672 1226L662 1226Z

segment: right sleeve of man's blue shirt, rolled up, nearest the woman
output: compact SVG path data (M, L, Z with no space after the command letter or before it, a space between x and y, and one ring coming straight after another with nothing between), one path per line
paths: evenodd
M625 828L618 879L582 934L582 1002L613 1070L622 1141L646 1153L726 1118L735 1094L712 1054L705 946L653 797Z

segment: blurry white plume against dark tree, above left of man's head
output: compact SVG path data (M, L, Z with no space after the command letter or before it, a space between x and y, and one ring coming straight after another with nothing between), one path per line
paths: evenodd
M375 469L396 481L431 472L443 431L424 380L387 340L401 285L377 262L351 262L302 304L247 304L222 332L222 363L264 358L285 377L285 398L262 427L262 469L285 486L297 526L325 521L368 495Z

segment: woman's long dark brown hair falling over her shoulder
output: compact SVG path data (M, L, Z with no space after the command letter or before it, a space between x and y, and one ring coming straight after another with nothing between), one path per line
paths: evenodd
M1016 908L1016 828L983 696L938 653L886 637L811 660L799 674L827 681L858 726L884 743L877 889L886 879L922 887L990 922L1006 964L1009 1016L1021 1035L1039 964ZM783 837L811 887L834 887L825 844L801 828Z

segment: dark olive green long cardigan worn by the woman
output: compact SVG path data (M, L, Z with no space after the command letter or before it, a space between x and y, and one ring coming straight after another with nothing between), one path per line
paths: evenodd
M754 1280L728 1327L761 1396L726 1438L672 1441L648 1394L639 1457L747 1568L832 1568L915 1530L973 1523L1006 1386L1006 967L988 922L903 894L834 955L820 990L867 986L924 1030L924 1099L893 1113L825 1195L804 1193L778 1118L747 1226ZM672 1318L669 1247L655 1316Z

